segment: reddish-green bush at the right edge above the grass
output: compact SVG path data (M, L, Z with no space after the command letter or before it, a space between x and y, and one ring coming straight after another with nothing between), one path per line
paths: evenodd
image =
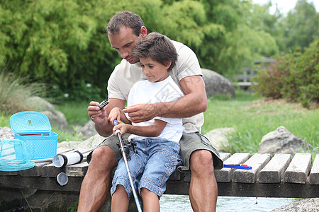
M315 40L304 53L286 54L273 66L261 69L253 80L258 84L254 89L260 95L272 98L286 98L301 102L309 107L319 102L319 39Z

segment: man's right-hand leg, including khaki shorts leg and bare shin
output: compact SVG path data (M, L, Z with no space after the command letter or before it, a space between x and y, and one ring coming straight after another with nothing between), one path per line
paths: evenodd
M181 171L191 170L189 199L194 211L216 211L218 187L214 167L223 167L218 151L205 136L183 134L181 138Z

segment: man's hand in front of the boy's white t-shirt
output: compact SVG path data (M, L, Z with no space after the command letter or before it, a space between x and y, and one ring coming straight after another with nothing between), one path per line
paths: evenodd
M155 109L155 105L152 104L132 105L125 107L123 112L127 112L130 121L134 123L146 122L158 116L158 111Z

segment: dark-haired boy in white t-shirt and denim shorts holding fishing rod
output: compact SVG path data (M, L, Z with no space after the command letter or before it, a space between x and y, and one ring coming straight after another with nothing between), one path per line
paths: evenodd
M171 102L183 94L167 71L172 70L177 52L168 37L150 33L133 49L133 56L140 59L142 72L147 81L139 81L130 90L128 106L142 103ZM179 118L155 117L134 123L123 110L111 110L108 121L121 120L124 124L114 126L121 134L131 134L128 139L137 143L136 153L130 151L128 161L133 181L142 196L145 211L159 211L159 198L165 192L166 182L177 165L181 165L179 140L184 127ZM111 187L111 211L128 211L132 189L123 159L118 163Z

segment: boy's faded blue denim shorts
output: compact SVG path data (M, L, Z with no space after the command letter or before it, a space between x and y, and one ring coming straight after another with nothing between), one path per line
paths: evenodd
M135 189L138 188L140 194L140 189L146 188L160 197L166 190L167 179L181 165L179 143L165 139L143 139L135 142L136 153L131 148L128 161ZM132 188L123 158L118 162L114 173L111 195L118 184L123 185L130 199Z

